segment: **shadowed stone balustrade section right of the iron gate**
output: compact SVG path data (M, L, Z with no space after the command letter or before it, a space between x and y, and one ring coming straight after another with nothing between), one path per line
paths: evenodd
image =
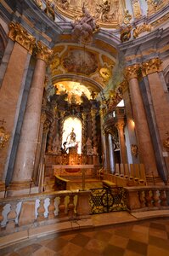
M128 187L125 189L129 212L169 209L168 186Z

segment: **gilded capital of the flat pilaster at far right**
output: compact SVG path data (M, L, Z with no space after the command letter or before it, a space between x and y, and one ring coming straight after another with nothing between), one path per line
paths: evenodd
M162 61L159 58L154 58L142 63L142 74L146 76L150 73L160 72Z

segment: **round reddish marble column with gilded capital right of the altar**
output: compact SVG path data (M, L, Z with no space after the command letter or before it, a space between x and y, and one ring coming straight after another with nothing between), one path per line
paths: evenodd
M138 64L126 67L125 76L129 83L129 90L132 99L133 118L136 125L138 137L138 154L140 162L145 166L145 172L148 176L157 176L157 167L155 163L155 152L152 146L149 134L149 126L144 110L144 103L138 84Z

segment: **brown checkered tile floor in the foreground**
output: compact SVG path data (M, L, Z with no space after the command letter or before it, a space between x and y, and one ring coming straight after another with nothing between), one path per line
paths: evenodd
M3 249L8 256L168 256L169 218L76 230Z

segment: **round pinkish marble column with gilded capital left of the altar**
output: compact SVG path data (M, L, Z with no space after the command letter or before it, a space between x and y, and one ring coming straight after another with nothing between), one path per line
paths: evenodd
M46 67L53 51L48 49L41 42L38 42L36 53L37 62L25 109L20 143L14 165L14 175L12 183L10 184L11 189L14 190L29 188L33 177Z

